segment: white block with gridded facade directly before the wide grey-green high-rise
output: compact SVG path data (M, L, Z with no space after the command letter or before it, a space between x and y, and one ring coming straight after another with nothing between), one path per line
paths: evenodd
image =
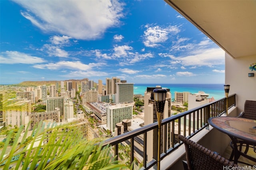
M132 119L132 104L117 104L107 107L107 127L110 131L114 131L116 123L124 119Z

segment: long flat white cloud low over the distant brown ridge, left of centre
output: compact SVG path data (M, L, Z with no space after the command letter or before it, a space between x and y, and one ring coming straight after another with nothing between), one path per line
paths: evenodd
M37 64L34 65L34 68L40 69L50 69L50 70L60 70L60 69L69 69L69 70L91 70L94 67L94 63L83 64L80 61L60 61L58 63L48 63L48 64Z

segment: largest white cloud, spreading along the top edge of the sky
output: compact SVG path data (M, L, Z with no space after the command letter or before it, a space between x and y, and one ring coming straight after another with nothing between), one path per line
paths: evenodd
M14 0L26 11L21 14L47 33L76 39L97 39L109 27L120 25L123 3L117 0Z

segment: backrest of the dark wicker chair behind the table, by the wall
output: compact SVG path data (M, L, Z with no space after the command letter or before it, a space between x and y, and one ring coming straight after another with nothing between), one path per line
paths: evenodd
M242 117L247 119L256 119L256 101L246 100L244 102L244 113Z

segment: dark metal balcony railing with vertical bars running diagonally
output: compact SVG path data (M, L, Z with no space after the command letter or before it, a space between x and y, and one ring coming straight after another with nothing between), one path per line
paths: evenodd
M233 94L228 97L228 108L236 106L236 95ZM194 109L190 109L188 111L179 113L177 115L173 115L166 119L162 120L162 129L163 129L163 137L162 137L162 147L161 147L161 160L180 147L180 141L178 140L178 134L181 134L185 137L192 137L196 133L200 132L202 129L208 127L208 118L220 116L226 113L226 98L222 98L220 100L211 102L209 104L196 107ZM130 162L134 161L134 152L137 152L136 143L138 137L143 136L143 150L141 156L143 157L143 167L141 169L149 169L157 163L157 147L153 147L150 150L153 150L153 158L152 160L148 160L147 152L147 135L150 131L153 131L153 141L157 143L157 128L158 123L152 123L150 125L146 125L139 129L135 129L133 131L129 131L127 133L123 133L119 136L107 139L104 141L104 145L114 146L114 154L118 159L118 144L120 143L129 143L130 144ZM136 139L137 138L137 139ZM142 144L141 144L142 145Z

